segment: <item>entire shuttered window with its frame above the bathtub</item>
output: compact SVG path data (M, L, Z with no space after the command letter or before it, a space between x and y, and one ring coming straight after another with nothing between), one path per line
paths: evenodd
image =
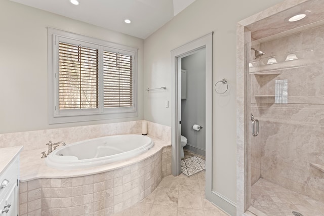
M48 30L50 123L138 115L136 48Z

